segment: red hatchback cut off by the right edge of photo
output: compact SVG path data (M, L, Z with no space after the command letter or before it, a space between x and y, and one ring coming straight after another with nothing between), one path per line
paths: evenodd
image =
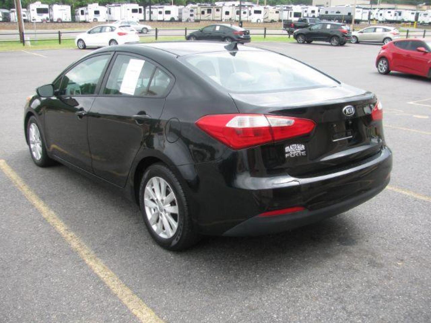
M397 39L383 45L376 67L380 74L397 71L431 78L431 39Z

